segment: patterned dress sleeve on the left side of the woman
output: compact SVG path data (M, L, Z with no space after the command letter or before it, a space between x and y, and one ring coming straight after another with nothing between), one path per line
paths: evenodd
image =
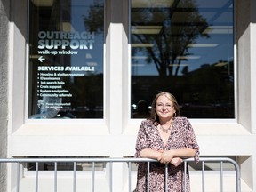
M140 157L140 151L144 148L148 148L148 142L147 142L147 133L146 133L146 125L145 121L142 121L140 124L140 129L137 134L137 141L136 141L136 146L135 146L135 157L139 158Z

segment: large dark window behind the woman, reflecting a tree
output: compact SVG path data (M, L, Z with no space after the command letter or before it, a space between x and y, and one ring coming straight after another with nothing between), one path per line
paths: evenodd
M141 100L148 113L161 91L176 97L181 116L234 118L233 1L132 0L131 6L132 118Z

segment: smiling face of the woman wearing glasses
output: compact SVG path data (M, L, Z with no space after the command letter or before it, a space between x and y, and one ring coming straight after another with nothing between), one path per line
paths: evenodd
M169 100L166 95L161 95L156 100L156 114L159 116L159 119L169 120L173 117L173 114L176 112L173 103Z

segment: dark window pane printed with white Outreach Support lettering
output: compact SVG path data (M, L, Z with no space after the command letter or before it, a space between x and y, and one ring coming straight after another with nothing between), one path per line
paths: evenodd
M31 0L28 118L103 118L103 0Z

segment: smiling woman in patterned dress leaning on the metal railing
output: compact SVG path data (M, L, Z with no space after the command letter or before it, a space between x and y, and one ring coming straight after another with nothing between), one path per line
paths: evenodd
M175 97L169 92L160 92L153 100L151 118L142 121L140 125L135 157L158 161L150 164L149 191L165 191L165 164L168 164L168 191L185 191L182 159L194 156L196 163L199 161L194 130L188 119L179 115L180 108ZM135 191L147 191L147 170L147 163L139 163ZM189 192L188 172L186 182Z

